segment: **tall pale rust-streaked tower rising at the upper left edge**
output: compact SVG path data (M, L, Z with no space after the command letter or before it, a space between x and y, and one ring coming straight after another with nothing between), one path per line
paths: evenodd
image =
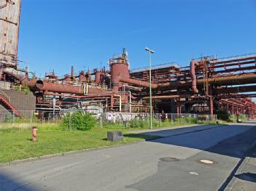
M16 67L21 0L0 0L0 66Z

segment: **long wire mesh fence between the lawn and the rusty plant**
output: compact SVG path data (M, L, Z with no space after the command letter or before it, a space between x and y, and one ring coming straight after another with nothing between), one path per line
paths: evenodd
M81 111L81 110L79 110ZM50 124L58 126L63 125L65 118L66 129L75 129L77 116L73 116L77 110L53 112L53 111L18 111L20 116L11 110L0 110L0 127L20 127ZM152 122L149 113L92 113L96 118L97 126L106 128L158 128L176 125L188 125L196 123L216 123L217 120L224 118L220 115L203 115L193 113L153 113ZM68 117L67 117L68 116ZM225 116L227 118L227 116ZM244 122L255 120L255 115L228 115L228 122ZM151 125L152 124L152 125ZM86 125L83 123L82 125Z

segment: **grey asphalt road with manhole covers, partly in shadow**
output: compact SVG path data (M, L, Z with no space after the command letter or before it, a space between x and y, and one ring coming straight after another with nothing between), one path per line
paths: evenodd
M1 167L0 190L223 190L255 142L256 127L193 126L150 134L163 138Z

